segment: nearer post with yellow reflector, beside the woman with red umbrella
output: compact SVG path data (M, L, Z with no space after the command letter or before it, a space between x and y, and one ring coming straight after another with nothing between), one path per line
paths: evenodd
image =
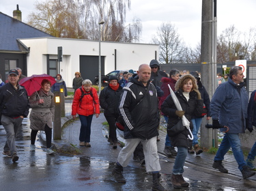
M53 123L53 139L61 140L61 93L55 92L55 115Z

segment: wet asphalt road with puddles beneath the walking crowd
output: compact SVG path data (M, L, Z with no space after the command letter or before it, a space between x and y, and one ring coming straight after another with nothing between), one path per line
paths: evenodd
M35 143L35 152L29 151L29 120L25 119L16 141L20 159L13 163L11 158L0 157L0 190L151 190L152 176L145 173L144 166L133 160L124 168L127 182L115 182L111 170L121 148L112 149L106 141L107 132L102 129L104 121L103 114L93 119L91 148L77 146L80 121L74 121L63 130L63 140L76 145L81 154L66 156L56 153L49 156L39 139ZM0 126L1 151L4 144L5 130ZM175 190L170 181L173 162L173 158L160 154L162 185L167 190ZM184 178L189 181L190 187L182 190L256 190L254 180L244 181L240 175L227 176L207 171L200 164L195 166L189 163L186 163L184 170Z

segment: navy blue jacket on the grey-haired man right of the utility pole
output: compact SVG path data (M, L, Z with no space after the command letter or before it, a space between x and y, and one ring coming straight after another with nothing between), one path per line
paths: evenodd
M229 78L217 87L212 96L210 111L213 120L219 120L221 125L229 127L227 133L238 134L244 133L246 129L247 107L248 93L244 83L237 85Z

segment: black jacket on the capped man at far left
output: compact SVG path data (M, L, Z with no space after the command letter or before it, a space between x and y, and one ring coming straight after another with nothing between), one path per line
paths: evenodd
M27 117L29 114L29 98L26 89L18 85L16 90L10 83L3 85L0 87L0 105L3 108L1 111L3 115L8 117L23 115L23 117Z

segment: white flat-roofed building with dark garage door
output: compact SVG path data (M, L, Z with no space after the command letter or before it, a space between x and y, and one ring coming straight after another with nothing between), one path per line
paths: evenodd
M98 76L99 42L68 38L19 39L29 50L27 53L27 76L33 74L57 74L57 47L62 46L63 60L59 73L72 87L75 72L92 82ZM158 45L122 42L101 42L101 70L107 74L113 70L138 70L141 63L158 59Z

